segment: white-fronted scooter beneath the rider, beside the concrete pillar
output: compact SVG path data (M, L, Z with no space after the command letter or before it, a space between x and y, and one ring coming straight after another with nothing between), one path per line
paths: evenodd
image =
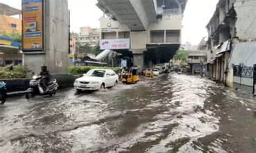
M26 93L26 99L30 99L36 95L49 95L53 96L56 94L59 85L56 79L50 79L47 87L44 89L42 86L42 81L45 79L40 75L33 76L32 80L29 82L29 89Z

